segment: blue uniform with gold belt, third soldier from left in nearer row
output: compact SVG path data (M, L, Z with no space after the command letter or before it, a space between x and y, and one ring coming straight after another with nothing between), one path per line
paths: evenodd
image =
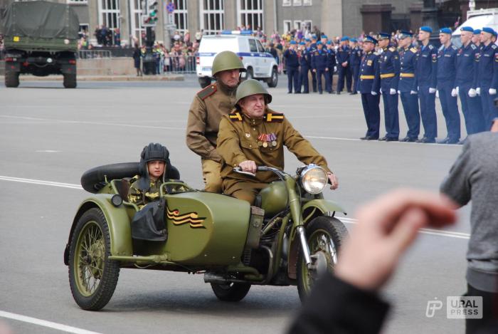
M402 31L401 38L412 38L413 33ZM401 49L400 53L400 73L398 90L401 95L401 103L405 111L405 118L408 124L408 133L402 142L415 142L420 133L420 111L418 110L417 82L415 71L417 69L417 48L408 46Z

